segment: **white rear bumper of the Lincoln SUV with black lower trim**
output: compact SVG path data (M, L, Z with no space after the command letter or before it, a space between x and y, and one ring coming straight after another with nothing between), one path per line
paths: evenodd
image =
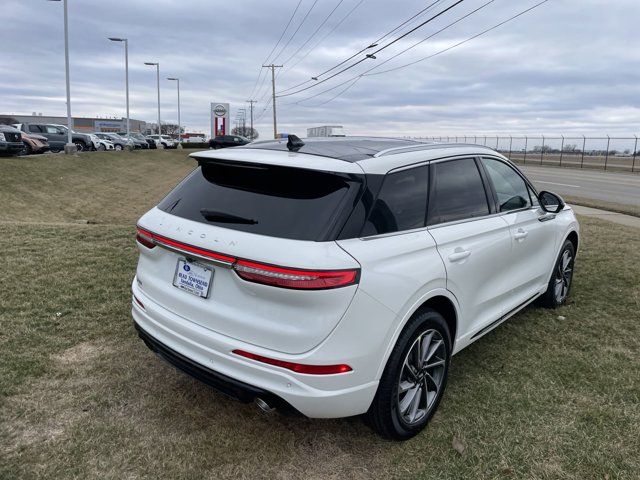
M256 397L290 405L312 418L339 418L366 412L378 387L364 384L355 372L304 375L231 353L255 351L255 346L220 335L161 307L133 283L133 293L144 309L132 302L132 316L145 343L185 373L241 401ZM277 354L276 354L277 355ZM351 376L351 377L349 377ZM322 377L322 378L319 378ZM337 378L339 377L339 378ZM353 378L348 385L346 378ZM333 388L335 385L339 387Z

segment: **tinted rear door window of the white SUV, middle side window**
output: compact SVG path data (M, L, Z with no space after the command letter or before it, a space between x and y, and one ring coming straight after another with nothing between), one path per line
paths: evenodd
M472 158L435 163L433 172L430 225L489 214L484 184Z

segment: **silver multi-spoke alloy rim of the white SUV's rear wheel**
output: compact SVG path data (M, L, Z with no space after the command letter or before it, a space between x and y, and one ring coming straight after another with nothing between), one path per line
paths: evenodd
M415 339L398 380L398 413L408 425L420 422L434 405L444 380L447 351L437 330Z

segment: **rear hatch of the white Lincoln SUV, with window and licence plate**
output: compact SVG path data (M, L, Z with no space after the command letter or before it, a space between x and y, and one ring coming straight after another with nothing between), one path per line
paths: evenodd
M355 294L359 265L334 238L363 182L345 172L201 161L139 221L139 286L185 321L306 352Z

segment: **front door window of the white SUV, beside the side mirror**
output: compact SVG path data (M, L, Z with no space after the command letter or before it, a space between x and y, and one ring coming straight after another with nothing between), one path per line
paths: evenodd
M498 195L501 212L531 206L527 184L513 168L495 158L483 158L482 163Z

